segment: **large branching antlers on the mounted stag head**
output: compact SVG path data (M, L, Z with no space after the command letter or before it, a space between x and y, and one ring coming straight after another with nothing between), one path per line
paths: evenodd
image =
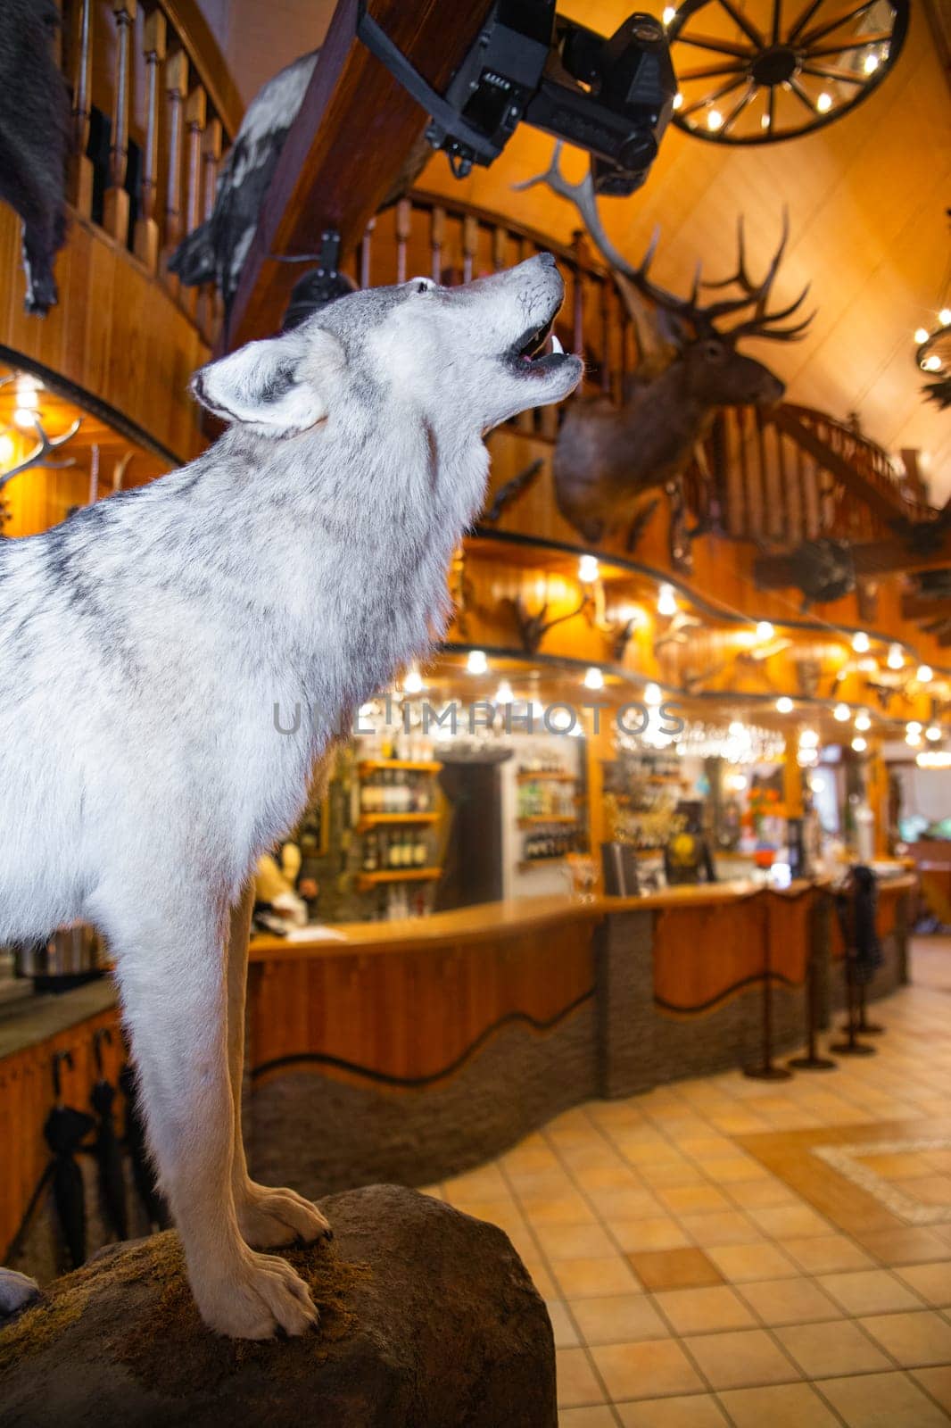
M654 228L647 251L641 258L640 264L635 267L628 263L618 250L614 247L607 233L604 231L604 224L601 223L601 214L598 213L597 194L594 191L594 178L591 171L580 183L568 183L568 180L561 173L560 167L561 159L561 144L555 144L551 161L544 173L535 174L534 178L527 178L524 183L515 184L515 188L533 188L538 183L544 183L557 193L558 197L567 198L573 203L581 216L588 236L598 248L601 257L605 260L608 267L615 273L615 277L630 283L643 297L650 298L663 311L670 313L674 317L680 317L688 321L698 337L728 337L735 341L740 337L770 337L777 341L792 341L801 337L815 316L811 313L807 318L797 323L792 327L774 327L774 323L781 323L784 318L791 317L792 313L798 310L801 303L805 300L808 293L808 284L802 288L800 296L788 307L781 311L770 313L768 301L773 283L780 271L780 264L785 253L785 244L790 236L790 220L788 213L783 211L783 234L780 237L780 246L773 254L773 261L767 270L765 277L761 283L754 283L750 277L747 268L745 256L745 236L743 227L743 218L740 218L737 226L737 271L730 277L718 283L704 283L701 277L701 264L697 264L694 273L693 287L690 290L690 297L677 297L675 293L670 293L665 287L654 283L650 277L650 267L654 261L657 253L657 246L660 243L660 228ZM624 293L624 281L620 283L621 291ZM708 288L724 288L738 286L743 288L741 297L721 298L715 303L708 303L701 306L698 301L701 287ZM625 294L627 297L627 294ZM630 301L628 301L630 307ZM721 330L717 327L717 320L723 317L730 317L734 313L741 313L745 308L753 307L753 316L745 321L738 323L735 327L728 330Z

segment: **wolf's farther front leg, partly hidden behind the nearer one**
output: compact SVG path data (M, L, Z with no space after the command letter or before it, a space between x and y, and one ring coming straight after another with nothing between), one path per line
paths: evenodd
M310 1244L321 1237L333 1238L330 1224L310 1201L294 1190L268 1190L256 1184L247 1172L244 1137L241 1131L241 1080L244 1074L244 994L247 985L247 944L254 907L254 887L250 884L241 901L231 910L228 927L228 1067L231 1071L231 1100L234 1104L234 1158L231 1188L241 1235L256 1250L294 1244Z

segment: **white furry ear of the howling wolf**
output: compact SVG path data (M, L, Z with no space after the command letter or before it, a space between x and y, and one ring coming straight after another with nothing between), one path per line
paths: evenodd
M343 347L321 327L248 343L191 378L191 394L223 421L276 437L296 436L327 416Z

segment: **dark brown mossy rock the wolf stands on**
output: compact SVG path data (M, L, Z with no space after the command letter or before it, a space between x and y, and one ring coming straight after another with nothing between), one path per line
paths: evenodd
M1 1428L555 1428L544 1302L501 1230L396 1185L320 1202L286 1251L320 1325L211 1334L177 1234L104 1251L0 1329Z

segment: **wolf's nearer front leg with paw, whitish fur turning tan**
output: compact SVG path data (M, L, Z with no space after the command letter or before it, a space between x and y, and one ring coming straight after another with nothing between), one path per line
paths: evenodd
M307 1285L247 1247L234 1208L226 917L183 905L187 924L173 914L111 938L158 1180L204 1322L233 1338L303 1334L317 1319Z

